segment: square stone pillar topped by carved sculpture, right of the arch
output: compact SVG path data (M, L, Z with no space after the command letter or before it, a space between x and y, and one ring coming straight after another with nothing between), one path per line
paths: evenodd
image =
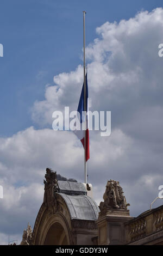
M120 182L109 180L103 199L96 221L98 245L123 245L126 242L124 223L133 218L129 215L129 204L126 202Z

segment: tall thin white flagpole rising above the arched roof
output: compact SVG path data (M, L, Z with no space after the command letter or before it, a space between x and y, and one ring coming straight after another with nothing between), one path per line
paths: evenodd
M85 123L86 123L86 81L85 81L85 14L86 11L83 11L83 69L84 69L84 113L85 113ZM85 175L85 184L87 184L87 172L86 172L86 127L84 135L84 175Z

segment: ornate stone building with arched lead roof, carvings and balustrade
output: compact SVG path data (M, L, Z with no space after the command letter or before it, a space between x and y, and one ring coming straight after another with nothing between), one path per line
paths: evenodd
M134 218L122 187L109 180L98 206L91 185L46 169L43 203L21 245L163 245L163 205Z

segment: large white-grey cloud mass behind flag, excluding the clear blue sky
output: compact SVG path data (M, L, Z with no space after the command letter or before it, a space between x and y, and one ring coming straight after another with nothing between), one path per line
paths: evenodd
M163 184L163 59L158 56L163 9L142 11L119 23L106 22L96 31L97 38L86 50L90 110L111 111L112 130L106 138L98 131L90 132L88 181L98 203L106 181L120 181L131 215L136 216L149 209ZM43 199L46 167L83 181L82 145L72 132L52 130L53 111L63 111L65 106L76 110L82 84L80 65L54 76L54 84L45 89L45 100L33 106L32 118L40 130L29 127L0 138L3 234L21 234L28 221L34 224Z

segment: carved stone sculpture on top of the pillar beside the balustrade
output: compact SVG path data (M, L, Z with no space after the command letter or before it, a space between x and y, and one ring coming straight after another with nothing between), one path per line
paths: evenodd
M99 205L101 210L104 208L127 210L127 206L130 205L126 202L120 182L115 180L108 180L103 199L104 202Z

